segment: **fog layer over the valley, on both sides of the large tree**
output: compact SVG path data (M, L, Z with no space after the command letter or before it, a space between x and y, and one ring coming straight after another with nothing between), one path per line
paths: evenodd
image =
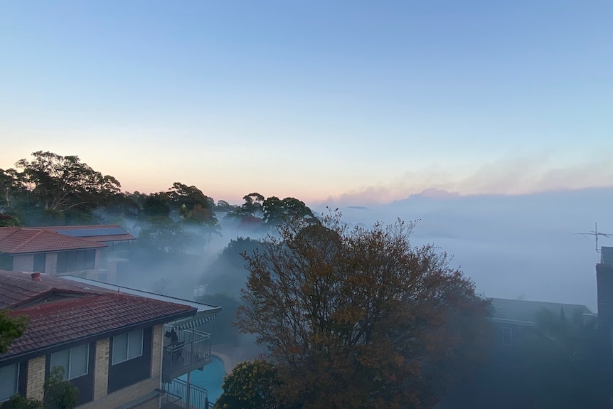
M599 233L613 233L605 204L612 201L612 188L594 188L521 196L425 191L388 204L306 204L320 215L339 208L349 225L368 227L398 218L417 221L412 245L435 245L452 256L452 266L471 277L486 297L585 304L595 312L599 255L595 235L580 233L591 233L595 222ZM235 245L233 260L220 254L230 240L257 239L267 233L224 216L217 213L219 234L211 235L210 243L188 247L183 262L161 260L144 271L136 271L137 265L131 262L121 284L188 298L217 293L238 297L247 275L237 272L245 264L238 253L251 247ZM138 235L137 224L128 222L127 227ZM613 238L599 235L598 245L613 245Z

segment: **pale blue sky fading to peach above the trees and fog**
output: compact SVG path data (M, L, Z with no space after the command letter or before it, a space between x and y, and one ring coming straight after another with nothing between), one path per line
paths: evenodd
M613 2L4 1L0 167L391 201L613 186Z

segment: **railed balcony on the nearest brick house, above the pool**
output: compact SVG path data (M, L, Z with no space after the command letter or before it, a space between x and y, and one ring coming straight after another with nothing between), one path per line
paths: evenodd
M165 329L170 333L172 328L166 326ZM166 383L184 373L202 368L212 361L210 334L195 329L178 329L175 330L175 334L176 340L165 341L162 355L162 381Z

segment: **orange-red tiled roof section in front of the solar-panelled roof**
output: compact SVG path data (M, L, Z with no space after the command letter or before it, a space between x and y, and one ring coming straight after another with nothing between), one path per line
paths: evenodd
M104 248L105 244L40 228L0 228L0 252L10 254Z

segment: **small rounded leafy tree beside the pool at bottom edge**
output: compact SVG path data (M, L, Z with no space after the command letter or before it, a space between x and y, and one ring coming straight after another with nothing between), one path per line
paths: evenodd
M256 359L239 363L223 381L223 393L214 409L274 409L277 408L277 368L272 363Z

